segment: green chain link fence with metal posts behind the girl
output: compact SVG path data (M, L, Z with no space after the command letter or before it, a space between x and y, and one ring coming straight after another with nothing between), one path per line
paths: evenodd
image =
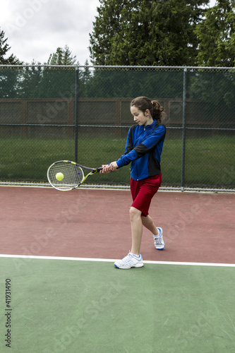
M47 184L56 160L118 159L140 95L164 107L162 189L234 191L235 68L0 66L0 183ZM126 166L88 180L129 178Z

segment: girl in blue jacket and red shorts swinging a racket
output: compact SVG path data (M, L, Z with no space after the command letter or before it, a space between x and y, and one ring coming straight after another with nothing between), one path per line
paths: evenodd
M147 97L132 100L131 114L135 125L128 131L125 153L119 160L102 165L100 173L109 173L131 162L132 246L127 256L114 263L116 268L143 267L143 258L140 255L143 225L152 232L156 249L164 249L162 228L156 227L148 214L152 197L162 183L160 157L166 135L166 128L161 124L162 112L163 107L156 100L151 101Z

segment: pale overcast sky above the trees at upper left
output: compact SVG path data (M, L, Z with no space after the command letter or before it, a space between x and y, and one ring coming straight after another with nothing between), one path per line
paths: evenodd
M214 6L216 0L210 1ZM20 61L47 62L49 54L67 44L80 64L90 60L89 33L99 0L4 0L0 28Z

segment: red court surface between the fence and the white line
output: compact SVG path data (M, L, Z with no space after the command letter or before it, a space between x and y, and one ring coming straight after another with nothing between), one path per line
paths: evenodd
M0 188L0 253L122 258L131 249L130 191ZM166 244L143 232L144 261L235 263L233 193L159 191L150 206Z

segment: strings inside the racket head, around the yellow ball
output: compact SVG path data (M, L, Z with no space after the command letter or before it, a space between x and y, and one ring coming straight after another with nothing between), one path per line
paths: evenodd
M64 178L62 180L56 179L56 174L62 173ZM76 188L81 181L83 181L83 169L76 164L68 162L59 162L53 164L49 169L48 177L56 189L71 190Z

